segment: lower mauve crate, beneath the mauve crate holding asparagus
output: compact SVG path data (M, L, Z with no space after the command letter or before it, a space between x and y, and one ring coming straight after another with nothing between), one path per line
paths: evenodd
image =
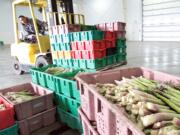
M21 135L30 135L33 131L49 126L56 121L56 108L38 113L25 120L18 121Z

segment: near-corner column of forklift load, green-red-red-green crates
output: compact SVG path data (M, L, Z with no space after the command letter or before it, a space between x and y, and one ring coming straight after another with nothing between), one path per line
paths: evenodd
M71 42L74 68L97 69L106 66L104 33L99 30L73 33Z

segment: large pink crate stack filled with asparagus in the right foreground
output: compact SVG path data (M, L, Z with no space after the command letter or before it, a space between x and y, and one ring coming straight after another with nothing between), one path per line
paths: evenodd
M179 77L129 68L76 79L84 135L180 134Z

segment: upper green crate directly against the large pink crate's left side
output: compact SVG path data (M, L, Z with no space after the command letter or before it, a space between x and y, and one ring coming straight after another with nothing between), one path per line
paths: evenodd
M56 93L80 101L80 92L77 88L76 81L68 79L74 77L79 71L80 70L76 70L55 76Z

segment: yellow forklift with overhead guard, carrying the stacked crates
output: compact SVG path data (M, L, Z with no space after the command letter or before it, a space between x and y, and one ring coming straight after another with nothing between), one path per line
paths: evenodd
M14 59L13 69L16 74L22 75L25 72L29 72L29 69L32 67L43 67L52 64L49 34L40 35L35 16L35 8L41 9L43 21L47 22L47 8L48 12L58 12L57 3L60 3L59 8L63 9L63 12L73 14L72 0L14 0L12 2L15 43L11 44L11 56ZM29 8L35 29L36 43L29 43L20 39L17 7ZM56 19L56 25L62 24L62 22L58 22L58 16L56 16ZM68 23L68 21L66 22ZM51 18L48 25L54 25L51 23Z

